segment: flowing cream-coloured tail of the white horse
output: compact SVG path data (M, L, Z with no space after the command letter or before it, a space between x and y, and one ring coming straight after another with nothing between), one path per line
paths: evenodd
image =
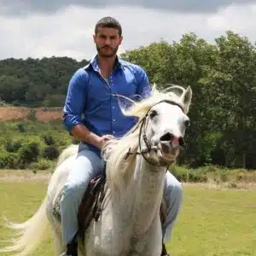
M15 231L16 239L13 245L3 247L0 252L15 253L15 255L31 255L38 245L44 241L47 236L49 221L46 216L46 198L38 208L38 211L24 223L8 223L7 226Z

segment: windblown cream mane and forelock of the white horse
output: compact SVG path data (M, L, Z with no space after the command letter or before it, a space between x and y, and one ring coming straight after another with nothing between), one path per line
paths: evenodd
M134 125L123 137L108 141L108 143L105 143L102 148L102 157L107 161L106 173L108 185L110 187L123 186L125 176L134 172L136 154L130 155L128 159L125 158L129 150L131 150L131 152L137 151L139 140L138 136L141 126L140 121L146 115L148 110L156 103L163 100L177 102L177 104L186 109L186 106L183 106L182 101L184 92L185 89L179 85L172 85L165 90L158 90L154 84L151 95L142 101L134 102L131 99L126 98L132 103L131 107L125 109L120 106L120 108L125 116L137 117L137 124ZM137 129L135 129L135 127L137 127Z

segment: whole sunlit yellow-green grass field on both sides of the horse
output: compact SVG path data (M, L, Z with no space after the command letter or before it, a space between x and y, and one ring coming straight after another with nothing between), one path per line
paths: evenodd
M1 182L1 217L30 218L45 190L43 182ZM252 189L184 185L183 209L167 244L172 256L256 256L255 202ZM9 235L1 219L0 241ZM1 242L0 247L3 245ZM44 241L33 255L54 255L52 241Z

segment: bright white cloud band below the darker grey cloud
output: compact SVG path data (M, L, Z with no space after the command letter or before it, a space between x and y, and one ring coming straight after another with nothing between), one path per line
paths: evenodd
M122 49L134 49L161 38L178 41L195 32L212 41L233 30L256 40L256 5L231 5L216 14L177 14L150 9L116 7L88 9L69 6L53 15L0 16L0 59L64 56L81 60L95 54L92 34L96 21L116 17L124 30Z

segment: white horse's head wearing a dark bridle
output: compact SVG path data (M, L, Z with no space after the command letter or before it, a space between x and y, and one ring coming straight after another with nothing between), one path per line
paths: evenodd
M156 101L142 119L140 152L148 153L145 159L155 165L169 166L176 160L185 144L184 135L190 124L187 113L192 90L190 87L187 90L181 88L183 94L177 96L172 92L174 88L170 87L171 94L169 92L168 96Z

